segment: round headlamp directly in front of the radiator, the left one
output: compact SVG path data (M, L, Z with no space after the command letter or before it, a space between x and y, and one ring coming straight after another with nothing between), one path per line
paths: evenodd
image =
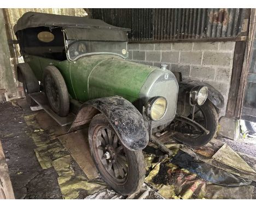
M165 115L167 101L164 97L153 97L147 105L147 115L150 119L160 120Z

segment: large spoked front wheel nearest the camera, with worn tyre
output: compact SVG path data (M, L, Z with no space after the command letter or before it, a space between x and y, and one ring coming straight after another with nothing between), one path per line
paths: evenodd
M91 120L89 145L98 172L110 187L122 195L138 191L145 178L142 150L125 148L103 114Z

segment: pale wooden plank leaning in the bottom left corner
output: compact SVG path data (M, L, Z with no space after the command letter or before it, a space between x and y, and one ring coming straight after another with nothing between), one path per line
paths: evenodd
M8 166L5 162L2 144L0 141L0 199L15 199L11 186Z

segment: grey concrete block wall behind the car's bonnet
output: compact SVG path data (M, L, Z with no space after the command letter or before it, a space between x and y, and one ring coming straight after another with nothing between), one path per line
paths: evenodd
M179 42L158 44L129 44L129 60L140 64L160 66L182 73L184 79L211 84L224 96L225 115L228 101L235 42Z

